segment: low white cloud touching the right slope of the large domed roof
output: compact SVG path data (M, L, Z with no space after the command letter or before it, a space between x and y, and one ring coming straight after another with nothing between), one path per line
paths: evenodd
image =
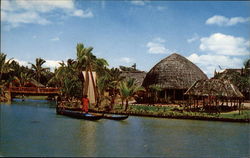
M222 68L240 68L243 63L240 58L225 55L197 55L194 53L187 58L197 64L209 77L214 75L214 70L219 70L219 66Z

